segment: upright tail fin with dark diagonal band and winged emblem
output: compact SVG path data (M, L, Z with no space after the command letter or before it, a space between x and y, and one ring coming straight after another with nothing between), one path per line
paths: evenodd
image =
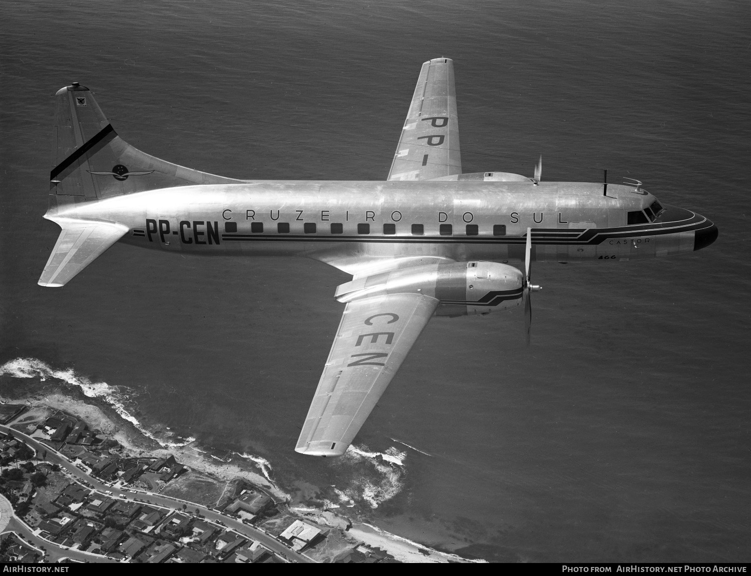
M56 104L51 204L171 186L242 182L171 164L135 149L117 135L92 92L77 82L57 92Z

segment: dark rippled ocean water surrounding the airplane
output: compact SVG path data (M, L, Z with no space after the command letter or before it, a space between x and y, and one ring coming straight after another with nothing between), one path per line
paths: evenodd
M722 1L3 2L0 363L106 382L144 426L466 556L747 561L749 23ZM65 288L36 284L58 234L41 216L61 86L89 86L125 140L178 164L383 179L439 56L465 172L531 174L540 153L544 179L607 169L719 240L536 265L530 348L519 310L433 319L341 460L293 448L345 274L114 246Z

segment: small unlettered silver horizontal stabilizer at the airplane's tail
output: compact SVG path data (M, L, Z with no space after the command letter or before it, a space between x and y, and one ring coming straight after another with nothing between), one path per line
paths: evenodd
M116 222L55 219L62 228L38 285L64 286L122 238L128 227Z

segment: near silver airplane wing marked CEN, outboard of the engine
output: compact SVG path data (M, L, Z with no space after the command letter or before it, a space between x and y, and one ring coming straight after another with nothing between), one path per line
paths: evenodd
M438 303L422 294L347 303L297 439L297 452L345 453Z

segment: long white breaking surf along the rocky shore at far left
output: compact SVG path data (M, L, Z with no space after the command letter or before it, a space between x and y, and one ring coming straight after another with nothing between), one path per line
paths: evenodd
M89 398L104 400L113 407L123 420L127 420L133 424L143 436L155 440L162 448L182 448L182 446L195 442L195 438L192 436L186 438L185 442L164 442L164 440L158 439L143 427L134 415L125 409L125 404L123 404L125 395L121 394L117 388L108 385L107 382L92 382L85 376L77 375L72 368L58 370L53 369L49 364L36 358L16 358L15 360L8 360L8 362L0 366L0 375L5 374L14 376L15 378L34 378L38 376L41 381L45 381L47 378L56 378L57 380L68 382L69 385L77 386Z

